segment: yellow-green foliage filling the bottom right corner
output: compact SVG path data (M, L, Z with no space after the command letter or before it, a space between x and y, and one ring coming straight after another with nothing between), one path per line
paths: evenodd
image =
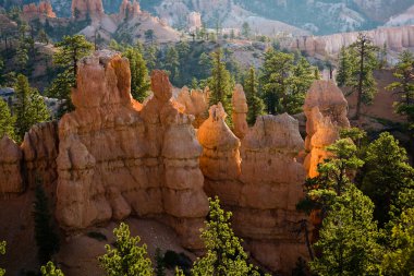
M401 214L398 225L392 228L392 243L382 261L385 275L414 275L414 208Z

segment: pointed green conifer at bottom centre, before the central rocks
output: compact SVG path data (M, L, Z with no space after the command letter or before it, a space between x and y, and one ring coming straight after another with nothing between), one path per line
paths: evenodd
M202 239L207 249L205 256L197 259L192 269L193 276L209 275L259 275L247 263L241 240L231 229L231 213L220 207L220 201L209 199L210 213Z

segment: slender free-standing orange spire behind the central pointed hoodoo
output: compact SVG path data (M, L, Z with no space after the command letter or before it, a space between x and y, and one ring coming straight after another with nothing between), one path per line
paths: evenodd
M232 119L234 124L234 134L243 140L248 131L247 125L247 100L246 95L244 94L243 86L236 84L232 97Z

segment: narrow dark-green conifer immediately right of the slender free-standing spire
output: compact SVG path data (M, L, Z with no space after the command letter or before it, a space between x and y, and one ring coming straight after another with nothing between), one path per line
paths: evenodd
M265 104L258 96L257 86L256 71L251 67L247 76L244 80L244 92L246 93L248 106L247 122L249 125L255 124L256 118L263 115L265 110Z

